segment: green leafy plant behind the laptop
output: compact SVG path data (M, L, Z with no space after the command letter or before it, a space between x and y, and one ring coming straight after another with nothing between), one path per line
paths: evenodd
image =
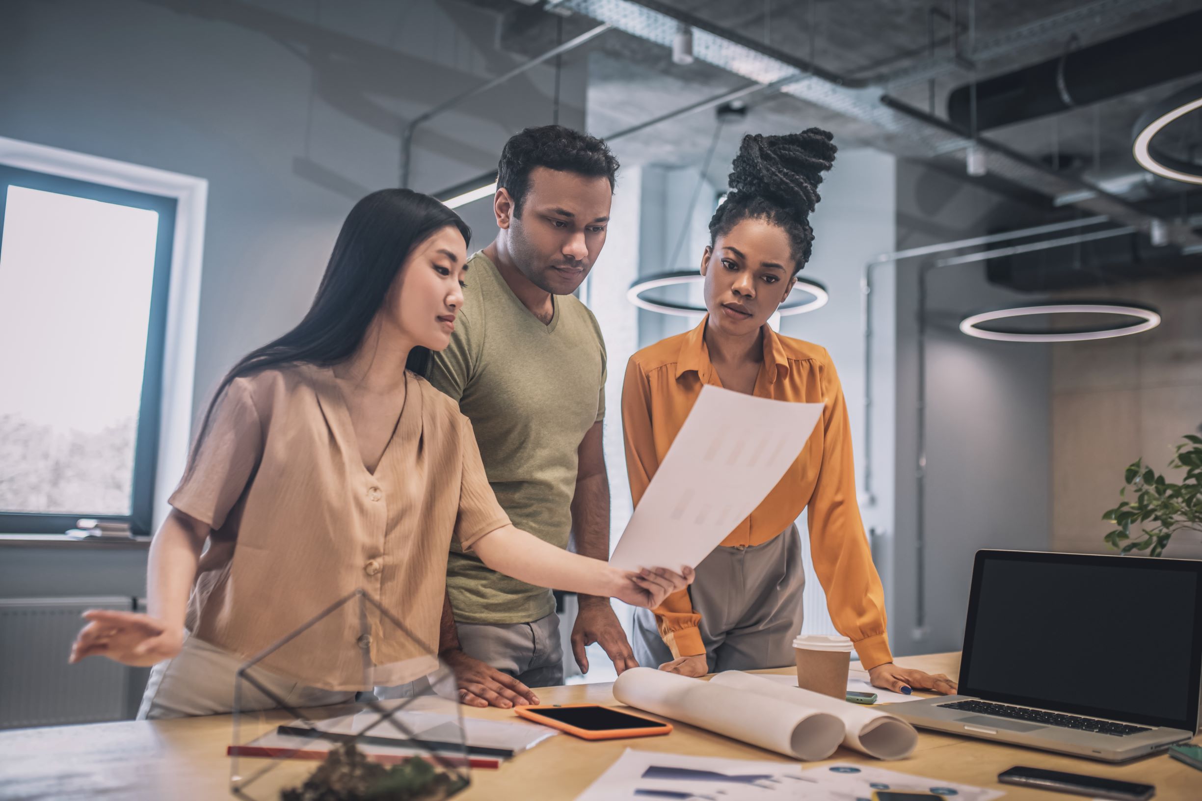
M1160 556L1177 532L1202 533L1202 437L1186 434L1176 452L1168 467L1185 470L1180 483L1166 481L1142 458L1127 467L1127 486L1119 489L1119 497L1127 498L1130 489L1131 500L1102 515L1102 520L1118 526L1105 536L1112 548L1123 553L1150 548L1149 556ZM1132 536L1131 526L1136 523L1139 527Z

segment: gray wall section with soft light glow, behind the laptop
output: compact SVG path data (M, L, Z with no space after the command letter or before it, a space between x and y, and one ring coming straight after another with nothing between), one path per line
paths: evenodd
M897 245L912 248L1022 227L1042 209L959 177L898 164ZM1033 299L993 286L983 265L934 269L927 299L924 553L918 523L918 272L895 268L897 439L894 653L959 649L978 548L1051 541L1051 352L962 334L969 312ZM918 559L926 580L918 585ZM918 627L917 595L926 600Z

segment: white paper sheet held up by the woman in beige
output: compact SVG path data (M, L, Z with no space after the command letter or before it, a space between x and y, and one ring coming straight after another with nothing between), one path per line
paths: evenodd
M703 386L609 558L624 570L696 568L785 475L821 403Z

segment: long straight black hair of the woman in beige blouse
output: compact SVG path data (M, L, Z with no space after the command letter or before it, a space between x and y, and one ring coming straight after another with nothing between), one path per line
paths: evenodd
M343 222L304 319L279 339L238 360L218 384L192 444L185 475L191 473L213 409L231 381L273 367L303 363L328 367L350 358L363 343L409 254L447 226L454 226L465 243L471 242L468 224L429 195L381 189L356 203ZM428 349L413 348L405 367L424 375L429 361Z

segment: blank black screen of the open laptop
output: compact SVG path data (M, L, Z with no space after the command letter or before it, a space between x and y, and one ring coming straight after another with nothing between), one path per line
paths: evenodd
M980 551L962 695L1194 730L1202 562Z

